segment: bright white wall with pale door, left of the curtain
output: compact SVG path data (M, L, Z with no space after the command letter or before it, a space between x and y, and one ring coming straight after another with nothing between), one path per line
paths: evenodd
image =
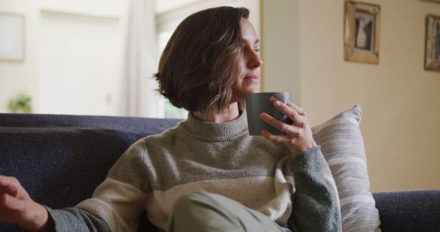
M0 11L25 16L25 60L0 62L0 112L25 92L34 113L116 115L127 4L0 1Z

